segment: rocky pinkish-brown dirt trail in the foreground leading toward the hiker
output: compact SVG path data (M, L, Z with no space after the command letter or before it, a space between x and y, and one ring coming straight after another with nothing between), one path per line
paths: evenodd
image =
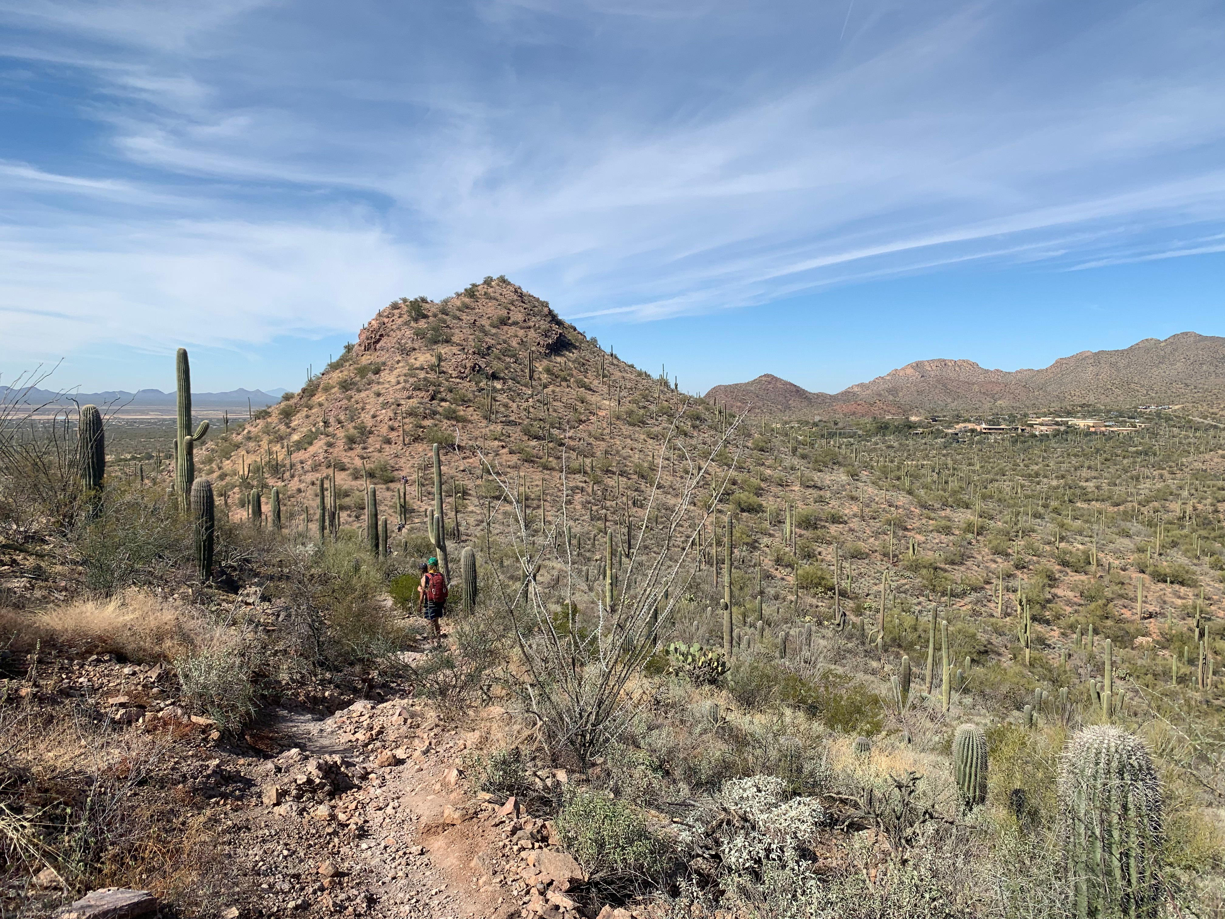
M523 879L534 872L526 857L545 848L544 825L463 790L457 767L479 730L456 734L424 703L398 698L325 719L278 711L270 732L290 749L251 771L262 804L219 827L233 891L223 917L501 919L526 906L577 915L565 879Z

